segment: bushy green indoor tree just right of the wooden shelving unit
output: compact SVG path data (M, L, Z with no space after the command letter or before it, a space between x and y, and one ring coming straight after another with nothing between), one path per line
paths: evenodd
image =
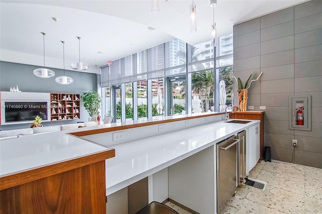
M89 112L90 116L98 114L98 110L101 107L102 98L97 91L84 92L82 96L84 107Z

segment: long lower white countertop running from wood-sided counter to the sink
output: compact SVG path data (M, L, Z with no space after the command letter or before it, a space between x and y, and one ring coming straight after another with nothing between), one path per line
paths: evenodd
M234 124L219 121L113 145L115 157L106 160L106 194L116 192L259 122Z

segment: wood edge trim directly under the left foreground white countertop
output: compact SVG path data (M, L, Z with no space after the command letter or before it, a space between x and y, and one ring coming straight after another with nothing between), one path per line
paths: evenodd
M115 157L115 149L0 177L0 190L90 165L112 157Z

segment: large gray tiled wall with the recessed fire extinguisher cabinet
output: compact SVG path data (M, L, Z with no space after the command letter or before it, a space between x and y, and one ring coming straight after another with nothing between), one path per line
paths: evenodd
M265 105L264 146L272 159L322 168L322 1L312 0L233 26L234 76L255 71L248 106ZM234 84L236 88L236 84ZM288 128L290 95L311 95L312 130ZM234 105L237 105L235 90ZM293 156L292 139L298 140Z

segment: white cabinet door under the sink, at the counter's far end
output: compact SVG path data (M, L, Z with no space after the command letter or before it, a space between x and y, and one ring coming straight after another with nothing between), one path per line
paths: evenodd
M260 124L248 128L247 175L260 159Z

